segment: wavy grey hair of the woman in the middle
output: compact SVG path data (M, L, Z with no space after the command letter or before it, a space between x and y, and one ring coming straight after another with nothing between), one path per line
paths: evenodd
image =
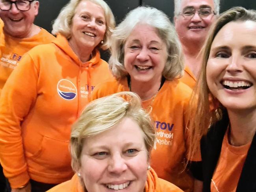
M115 78L120 79L128 75L124 68L124 44L134 27L139 24L155 28L167 46L168 57L162 75L168 80L181 77L184 70L183 54L173 24L165 13L156 8L137 7L126 15L111 36L109 68Z

